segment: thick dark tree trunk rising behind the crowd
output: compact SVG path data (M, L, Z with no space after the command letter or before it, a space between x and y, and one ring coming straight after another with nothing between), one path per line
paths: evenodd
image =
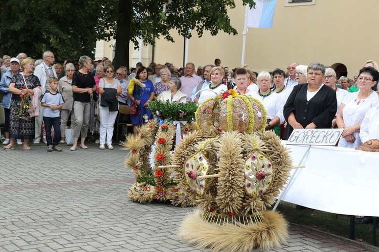
M130 18L132 1L118 1L118 19L116 27L116 50L113 66L118 69L126 66L129 70Z

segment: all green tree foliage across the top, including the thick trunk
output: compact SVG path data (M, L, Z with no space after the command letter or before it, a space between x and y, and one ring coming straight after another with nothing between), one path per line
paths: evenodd
M77 60L94 56L97 39L115 37L113 64L119 67L129 66L129 42L138 47L139 37L154 44L160 36L174 41L172 30L187 38L191 31L199 37L204 31L237 34L227 12L234 0L0 1L0 55L25 52L41 58L50 49L57 61ZM255 6L253 0L242 3Z

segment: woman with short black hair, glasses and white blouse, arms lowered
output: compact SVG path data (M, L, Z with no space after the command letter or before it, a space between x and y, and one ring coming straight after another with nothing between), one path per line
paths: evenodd
M359 71L359 91L348 93L338 111L337 125L344 129L338 146L355 148L362 145L359 130L367 111L378 103L377 94L371 89L378 78L379 73L372 67L364 67Z

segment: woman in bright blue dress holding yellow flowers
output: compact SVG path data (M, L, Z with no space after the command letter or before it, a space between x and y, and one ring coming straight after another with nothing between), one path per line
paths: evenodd
M134 135L137 135L137 126L145 123L143 116L146 114L148 119L151 119L151 111L146 107L149 105L149 102L154 99L155 89L153 82L148 80L148 71L146 70L146 67L139 67L135 77L141 83L145 84L145 87L140 87L139 85L134 84L133 92L130 93L130 90L128 91L131 103L134 102L138 107L137 115L130 116L131 123L133 124L133 133Z

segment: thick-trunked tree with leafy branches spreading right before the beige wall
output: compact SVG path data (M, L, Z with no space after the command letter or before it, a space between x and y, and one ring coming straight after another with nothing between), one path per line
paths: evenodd
M255 6L253 0L242 2L243 5ZM126 41L133 42L135 48L138 47L139 37L150 44L154 44L155 37L160 36L173 42L170 35L172 29L187 38L192 36L191 31L196 31L197 36L201 37L205 30L212 35L221 30L235 35L237 31L230 25L227 13L228 9L233 8L234 0L120 0L113 64L129 66L129 45Z

